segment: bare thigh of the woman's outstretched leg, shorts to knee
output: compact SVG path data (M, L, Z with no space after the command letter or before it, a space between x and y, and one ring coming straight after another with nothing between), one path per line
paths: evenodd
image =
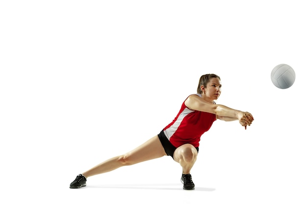
M166 156L158 136L154 136L142 145L123 155L128 165Z

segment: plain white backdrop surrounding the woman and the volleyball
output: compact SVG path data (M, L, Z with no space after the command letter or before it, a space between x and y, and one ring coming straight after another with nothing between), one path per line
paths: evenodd
M1 203L306 204L306 19L299 0L1 1ZM194 191L170 157L69 188L158 134L206 73L255 121L204 134Z

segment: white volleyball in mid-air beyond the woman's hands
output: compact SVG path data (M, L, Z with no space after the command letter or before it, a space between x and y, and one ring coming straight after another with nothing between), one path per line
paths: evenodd
M279 89L288 89L295 81L294 69L289 65L280 64L271 72L272 83Z

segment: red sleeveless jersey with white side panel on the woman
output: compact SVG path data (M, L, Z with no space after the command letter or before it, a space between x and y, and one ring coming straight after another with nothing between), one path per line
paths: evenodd
M215 114L188 109L183 102L175 119L163 132L175 147L187 143L198 147L201 136L210 129L215 120Z

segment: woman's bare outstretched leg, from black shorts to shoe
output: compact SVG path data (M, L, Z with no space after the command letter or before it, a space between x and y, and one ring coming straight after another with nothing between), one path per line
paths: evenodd
M132 165L163 156L166 156L165 150L158 136L154 136L134 150L124 155L105 160L97 166L82 173L82 175L88 178L97 174L113 171L122 166Z

